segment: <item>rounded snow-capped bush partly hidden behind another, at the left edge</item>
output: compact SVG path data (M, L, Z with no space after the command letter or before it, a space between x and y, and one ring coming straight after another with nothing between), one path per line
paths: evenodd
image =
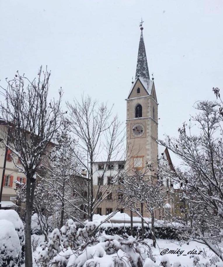
M15 228L15 231L18 234L20 246L21 246L21 250L22 250L22 261L23 261L25 258L24 225L23 225L18 213L15 210L0 210L0 221L3 219L11 222Z

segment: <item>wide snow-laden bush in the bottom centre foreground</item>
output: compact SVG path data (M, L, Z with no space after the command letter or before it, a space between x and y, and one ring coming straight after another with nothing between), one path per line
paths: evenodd
M111 236L96 229L93 222L81 228L72 219L67 220L39 246L36 263L42 267L141 267L146 258L154 259L150 247L139 238Z

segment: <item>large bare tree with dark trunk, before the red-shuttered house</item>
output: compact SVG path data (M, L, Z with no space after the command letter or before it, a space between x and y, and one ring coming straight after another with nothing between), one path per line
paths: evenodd
M13 80L7 80L7 88L3 89L5 103L1 103L1 112L8 122L7 147L13 157L20 159L20 164L13 160L19 171L25 173L26 185L26 217L25 217L25 266L32 266L31 216L36 181L36 171L43 162L43 156L50 145L55 131L60 126L59 100L48 103L50 72L39 69L37 78L29 80L18 72Z

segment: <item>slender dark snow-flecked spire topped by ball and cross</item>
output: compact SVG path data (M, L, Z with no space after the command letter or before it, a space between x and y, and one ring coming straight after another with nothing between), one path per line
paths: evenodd
M145 50L143 34L142 34L142 30L143 30L142 22L140 24L140 29L141 29L141 36L140 36L135 78L140 76L142 78L149 79L149 69L148 69L146 50Z

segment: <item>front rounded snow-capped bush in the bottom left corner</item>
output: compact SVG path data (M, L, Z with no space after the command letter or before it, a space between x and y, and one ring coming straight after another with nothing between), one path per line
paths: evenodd
M0 220L0 266L20 266L22 247L15 226L8 220Z

